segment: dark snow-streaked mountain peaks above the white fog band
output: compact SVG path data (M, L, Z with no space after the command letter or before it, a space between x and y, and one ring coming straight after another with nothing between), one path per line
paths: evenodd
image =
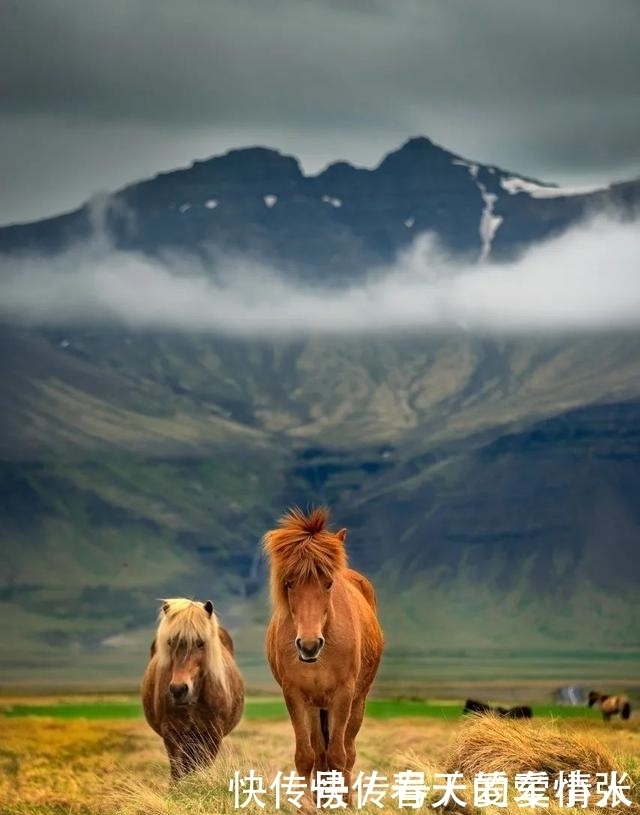
M584 192L465 160L410 139L374 170L346 162L315 176L262 147L231 150L132 184L102 201L114 245L155 255L240 254L294 277L353 282L391 262L416 234L451 252L504 259L585 214L636 213L640 180ZM56 252L88 238L95 206L0 230L0 252Z

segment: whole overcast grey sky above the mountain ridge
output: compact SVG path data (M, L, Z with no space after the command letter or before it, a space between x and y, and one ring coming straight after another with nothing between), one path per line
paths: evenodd
M640 176L638 0L3 0L0 223L232 147Z

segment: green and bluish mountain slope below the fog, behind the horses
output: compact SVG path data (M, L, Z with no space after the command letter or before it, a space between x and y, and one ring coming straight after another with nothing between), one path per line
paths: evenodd
M349 527L390 666L640 647L634 336L4 339L10 679L135 678L175 594L212 597L266 678L259 539L291 503Z

